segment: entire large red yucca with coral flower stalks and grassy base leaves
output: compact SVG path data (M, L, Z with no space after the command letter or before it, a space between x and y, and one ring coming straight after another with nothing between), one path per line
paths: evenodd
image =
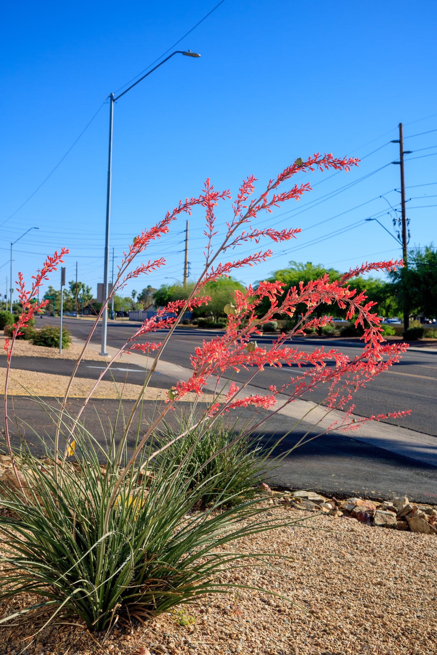
M228 487L223 490L219 502L193 515L193 519L184 521L187 512L200 505L200 498L210 488L208 485L215 484L215 480L208 479L208 476L200 476L201 485L194 483L200 479L199 470L189 461L191 447L187 449L186 443L182 445L187 437L195 434L194 447L205 435L207 438L210 434L208 431L223 413L249 405L267 410L265 417L250 429L259 428L281 409L276 407L278 394L287 395L281 405L284 407L322 383L326 383L325 404L328 411L343 410L341 423L334 421L326 430L328 432L354 430L364 421L379 421L406 413L400 411L358 420L352 416L352 394L398 362L407 347L384 341L380 319L373 312L375 303L367 303L364 293L357 294L350 287L354 276L368 271L393 271L402 266L402 261L366 263L351 269L340 280L330 282L328 275L324 275L308 284L301 283L286 294L280 281L260 282L257 288L249 286L244 292L235 291L233 301L225 307L228 317L225 333L203 341L202 346L195 348L191 357L193 373L190 379L180 381L168 390L168 400L154 413L149 428L143 434L138 420L134 447L126 456L128 432L136 417L138 419L137 414L140 415L145 388L183 313L208 305L210 299L202 295L207 282L229 276L235 269L246 265L253 266L265 261L272 252L259 250L248 257L225 263L221 261L223 255L240 244L258 244L262 238L270 238L273 242L296 238L299 229L259 230L251 227L251 221L257 218L259 212L271 212L273 207L280 206L286 200L299 200L305 192L311 191L309 183L294 185L289 191L278 191L278 187L296 172L309 172L314 168L349 170L357 162L357 159L335 159L332 155L318 154L305 162L297 159L275 179L269 180L267 189L261 195L256 195L256 179L250 176L238 189L232 206L232 218L226 223L225 236L218 245L214 211L219 201L231 196L229 191L215 191L209 179L199 197L180 202L155 227L139 234L124 253L115 285L94 322L83 352L102 312L107 311L111 297L128 280L147 274L165 263L164 258L160 257L132 267L136 256L152 240L166 234L178 215L190 214L196 206L202 206L206 212L203 270L186 300L169 303L156 316L145 320L126 341L102 371L78 415L71 420L66 413L66 403L82 352L61 403L54 443L50 445L41 438L41 448L53 462L48 470L41 469L24 441L20 449L14 449L10 443L7 385L16 336L33 312L39 311L47 303L43 301L38 305L34 302L38 288L47 275L56 270L67 250L48 257L43 269L34 278L30 291L26 291L20 274L18 291L23 311L14 326L12 342L5 345L8 356L5 441L16 483L9 487L3 485L0 489L2 504L14 510L19 518L0 517L9 548L1 558L9 567L9 575L7 580L0 582L0 601L26 591L37 595L36 605L23 610L31 613L33 622L39 614L47 614L44 625L55 617L67 616L75 620L79 617L88 629L102 630L109 629L119 618L134 616L141 620L168 610L177 603L189 603L204 593L226 591L227 588L218 584L214 576L223 568L241 565L236 560L244 558L244 555L241 552L234 554L231 550L225 552L220 547L227 546L229 549L232 542L241 536L277 527L278 520L264 515L264 510L256 506L253 500L244 500L237 506L233 502L232 509L216 512L218 506L227 506L233 496L231 487ZM257 313L259 305L266 298L270 306L260 316ZM306 310L296 316L296 308L302 304ZM329 315L312 318L314 310L317 309L320 314L321 305L337 305L341 310L347 310L347 318L356 317L355 325L360 324L364 329L364 347L356 357L349 359L337 350L324 350L323 347L315 348L313 352L302 352L290 344L293 335L330 322L332 317ZM270 348L258 346L254 337L261 333L263 325L278 315L294 317L295 326L275 339ZM162 341L142 340L142 337L157 331L164 331ZM103 448L85 430L81 415L111 363L121 355L136 350L150 354L153 358L151 365L130 415L124 421L121 439L118 442L115 440L114 429L109 434L107 448ZM328 362L333 365L328 367ZM303 368L292 383L279 389L271 387L269 394L244 396L244 388L263 371L265 365L280 367L282 364L295 364L299 368L309 364L311 368ZM246 382L240 387L231 383L227 390L216 394L214 401L206 405L205 411L191 413L191 422L184 423L180 432L176 432L172 438L169 436L164 442L160 439L159 447L154 447L153 436L168 412L189 392L202 396L208 381L211 378L219 380L229 369L248 371ZM41 400L38 402L42 403ZM247 432L238 435L236 440L242 436L247 436ZM181 444L180 452L178 443ZM228 446L231 444L232 441ZM185 454L181 456L181 453ZM102 458L105 460L104 468L101 466ZM199 464L200 468L209 462ZM154 467L154 475L146 477L145 471L151 467ZM240 523L248 517L257 517L257 520ZM12 616L1 622L10 620Z

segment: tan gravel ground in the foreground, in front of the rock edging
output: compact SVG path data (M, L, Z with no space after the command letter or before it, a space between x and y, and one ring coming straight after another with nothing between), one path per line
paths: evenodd
M179 625L177 612L162 614L140 629L115 629L104 648L85 630L62 626L47 629L26 652L436 654L436 538L283 506L272 510L281 518L304 516L306 527L296 524L240 540L236 545L244 552L276 556L269 564L254 559L254 568L225 574L223 581L259 586L294 605L265 591L241 589L237 595L235 590L186 608L185 616L194 620L189 626ZM23 603L26 599L18 598L3 615ZM0 629L0 653L20 652L25 636ZM95 636L101 643L102 637Z

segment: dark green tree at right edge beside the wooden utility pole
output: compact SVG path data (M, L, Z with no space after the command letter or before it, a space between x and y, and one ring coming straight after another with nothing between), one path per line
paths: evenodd
M392 291L400 307L413 316L437 317L437 249L433 244L412 248L408 266L390 273Z

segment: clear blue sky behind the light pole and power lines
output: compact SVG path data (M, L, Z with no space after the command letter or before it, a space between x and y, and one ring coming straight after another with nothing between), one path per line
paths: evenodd
M11 240L33 225L40 228L14 246L14 279L18 270L29 278L47 253L67 246L67 280L78 261L79 280L93 290L102 281L107 103L48 181L9 217L65 155L107 94L157 59L217 1L5 5L0 265L9 260ZM263 225L303 232L290 246L275 246L267 263L238 272L238 278L263 279L290 259L343 270L366 259L400 257L390 234L375 222L360 222L379 215L392 231L386 212L389 204L399 206L394 191L399 166L385 164L398 159L398 145L385 144L397 138L400 121L406 137L428 132L405 142L415 151L406 163L410 245L435 242L437 157L422 157L437 153L437 131L430 132L437 130L435 35L431 1L225 0L177 46L200 52L200 59L175 56L115 105L111 248L116 257L180 198L197 195L207 177L235 194L244 176L255 174L261 188L295 157L317 151L364 157L376 149L348 174L306 176L314 191L262 215ZM388 202L379 198L383 194ZM226 206L219 210L223 224ZM326 219L332 220L312 227ZM194 214L193 274L202 263L202 225L200 213ZM145 255L163 255L166 269L136 281L127 292L172 281L164 276L181 279L184 227L181 219ZM7 274L9 264L0 269L1 293ZM56 273L54 286L58 278Z

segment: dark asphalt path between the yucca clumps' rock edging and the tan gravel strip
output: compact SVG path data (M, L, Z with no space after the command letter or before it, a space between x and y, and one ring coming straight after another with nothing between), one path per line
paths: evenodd
M36 435L44 438L46 443L54 438L57 399L47 398L46 406L41 406L30 398L14 398L14 412L17 421L10 421L12 443L18 445L18 432L33 444L35 454L41 454L41 445ZM189 403L183 403L185 411L191 409ZM71 417L81 406L81 400L71 398L67 411ZM53 409L50 410L50 407ZM132 401L123 401L123 413L128 415ZM83 415L85 428L102 445L109 440L111 426L119 409L117 400L94 400L88 405ZM147 429L149 420L156 411L155 403L145 402L140 420L142 431ZM246 410L240 422L245 421L254 412ZM265 415L260 412L261 417ZM258 418L259 414L257 415ZM171 412L168 420L176 427L176 413ZM231 420L231 417L229 417ZM233 420L233 419L232 419ZM3 421L0 411L0 421ZM292 427L294 421L285 416L276 416L263 430L262 440L272 445ZM121 436L123 418L119 417L116 429L116 441ZM284 455L311 426L301 423L297 430L287 436L274 451L274 455ZM132 431L134 434L134 431ZM311 433L309 437L311 437ZM132 443L132 442L131 442ZM319 493L336 498L352 495L366 496L381 500L393 495L407 493L415 502L437 503L437 467L430 466L390 453L389 451L355 440L347 434L321 436L309 441L292 451L274 472L271 483L288 489L313 489Z

